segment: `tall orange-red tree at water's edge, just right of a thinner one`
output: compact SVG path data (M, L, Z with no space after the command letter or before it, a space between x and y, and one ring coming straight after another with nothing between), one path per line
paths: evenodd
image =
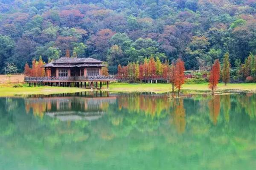
M185 66L184 62L181 59L177 59L175 65L175 82L174 85L178 89L178 96L180 96L180 88L185 82Z

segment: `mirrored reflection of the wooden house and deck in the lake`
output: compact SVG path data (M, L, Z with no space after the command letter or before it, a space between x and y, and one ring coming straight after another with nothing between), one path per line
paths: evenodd
M102 117L116 96L50 96L25 99L26 110L32 108L35 116L45 115L61 121L95 120Z

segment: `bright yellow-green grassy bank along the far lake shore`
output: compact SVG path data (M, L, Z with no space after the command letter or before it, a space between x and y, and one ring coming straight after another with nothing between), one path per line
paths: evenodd
M17 86L15 88L14 86ZM166 93L172 91L170 84L129 84L129 83L111 83L110 88L107 90L103 86L102 91L111 92L154 92ZM28 95L28 94L60 94L60 93L76 93L82 91L91 91L90 89L82 88L66 88L66 87L29 87L26 84L2 84L0 85L0 96L15 96L15 95ZM181 92L198 93L210 92L208 84L185 84L182 86ZM218 85L217 93L221 92L253 92L256 93L256 83L241 83L241 84L228 84L225 86L223 83Z

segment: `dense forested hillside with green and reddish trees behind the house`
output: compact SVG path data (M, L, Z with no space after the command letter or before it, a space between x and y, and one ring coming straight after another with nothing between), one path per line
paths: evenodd
M118 65L153 56L186 70L231 67L256 54L256 0L1 0L0 72L41 57L93 57Z

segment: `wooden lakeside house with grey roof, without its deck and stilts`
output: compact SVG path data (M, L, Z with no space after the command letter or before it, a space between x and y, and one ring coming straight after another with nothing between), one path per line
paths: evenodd
M62 57L44 65L47 77L101 76L102 61L93 58Z

